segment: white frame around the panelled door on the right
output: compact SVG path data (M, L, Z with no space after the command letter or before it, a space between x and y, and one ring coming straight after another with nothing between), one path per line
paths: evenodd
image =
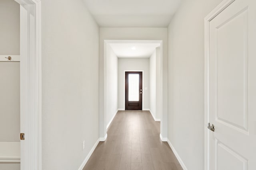
M220 12L227 8L235 0L223 0L208 16L204 18L204 169L210 170L210 131L208 122L210 122L210 21Z

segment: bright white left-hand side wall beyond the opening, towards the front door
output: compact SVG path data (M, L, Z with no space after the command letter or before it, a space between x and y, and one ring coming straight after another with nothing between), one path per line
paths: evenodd
M106 57L106 123L109 125L118 110L118 58L110 45Z

